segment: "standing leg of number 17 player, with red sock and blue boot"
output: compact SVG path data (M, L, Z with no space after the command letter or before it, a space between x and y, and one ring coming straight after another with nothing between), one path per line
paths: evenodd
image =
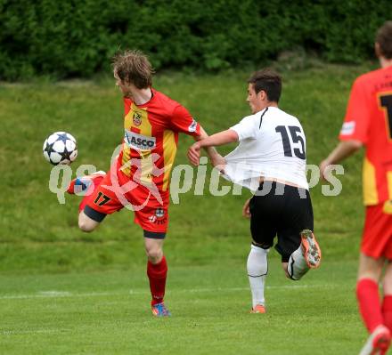
M163 254L165 233L144 230L144 246L147 254L147 276L151 290L151 310L156 317L170 316L164 297L167 278L167 262Z

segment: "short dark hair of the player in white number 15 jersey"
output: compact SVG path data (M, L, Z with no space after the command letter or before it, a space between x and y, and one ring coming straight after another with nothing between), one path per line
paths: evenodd
M265 91L268 101L279 102L282 93L282 77L273 69L261 69L253 73L248 80L253 84L255 93Z

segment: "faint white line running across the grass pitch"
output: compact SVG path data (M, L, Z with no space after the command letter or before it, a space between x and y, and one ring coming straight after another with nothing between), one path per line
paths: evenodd
M282 289L282 288L336 288L340 287L338 285L282 285L282 286L266 286L267 289ZM208 287L208 288L182 288L182 289L171 289L168 290L167 294L184 294L184 293L208 293L208 292L239 292L239 291L249 291L249 287ZM88 292L81 294L73 294L69 291L40 291L37 294L3 294L0 295L0 300L23 300L31 298L66 298L66 297L102 297L102 296L124 296L127 294L145 294L147 293L147 288L130 289L128 293L126 292Z

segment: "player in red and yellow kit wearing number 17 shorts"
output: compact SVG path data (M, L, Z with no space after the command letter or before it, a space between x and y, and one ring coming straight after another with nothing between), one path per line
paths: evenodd
M153 69L142 52L119 53L113 69L116 85L124 96L121 149L109 173L77 178L69 192L77 187L89 192L79 206L78 218L79 228L86 232L124 206L135 212L135 222L143 228L148 257L152 313L168 316L170 312L163 303L167 262L162 247L178 133L192 135L196 140L208 135L183 106L151 87ZM208 155L212 160L218 157L214 149L209 149ZM92 183L94 188L88 186Z

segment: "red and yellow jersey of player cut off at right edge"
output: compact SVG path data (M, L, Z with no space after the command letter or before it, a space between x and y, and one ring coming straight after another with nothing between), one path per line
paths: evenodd
M392 67L355 80L341 141L362 141L363 201L366 206L392 200Z

